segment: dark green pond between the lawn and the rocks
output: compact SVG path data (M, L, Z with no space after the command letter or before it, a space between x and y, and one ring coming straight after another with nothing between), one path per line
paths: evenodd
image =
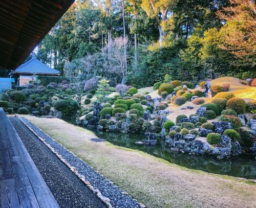
M99 138L121 147L137 149L156 157L163 158L170 163L190 169L202 170L209 173L224 174L247 179L256 179L256 160L251 154L243 154L230 159L217 159L212 156L189 155L172 152L165 146L164 140L159 138L156 146L136 145L135 142L144 142L144 135L132 133L109 133L91 129Z

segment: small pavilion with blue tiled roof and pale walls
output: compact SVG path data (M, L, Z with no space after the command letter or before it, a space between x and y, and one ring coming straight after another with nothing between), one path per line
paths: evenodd
M60 72L39 61L33 53L32 58L16 68L13 74L17 75L17 86L22 87L36 80L37 75L59 76Z

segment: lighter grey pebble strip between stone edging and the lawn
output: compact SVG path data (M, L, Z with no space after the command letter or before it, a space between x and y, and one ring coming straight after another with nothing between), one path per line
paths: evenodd
M89 166L79 157L75 156L72 152L70 152L65 147L63 147L58 142L56 142L52 137L45 134L41 129L39 129L32 123L30 123L27 119L25 118L21 118L21 119L30 128L32 128L37 133L37 135L44 138L46 142L50 144L55 149L55 151L58 152L58 154L60 154L64 159L66 159L71 166L75 167L80 174L84 175L85 179L89 181L95 189L98 189L104 197L108 197L113 207L115 208L119 208L119 207L120 208L126 208L126 207L140 208L141 207L136 200L132 199L129 195L123 193L123 191L120 190L115 184L113 184L113 182L106 179L103 175L95 171L91 166ZM12 118L11 121L13 122L13 120L17 122L16 120L18 119Z

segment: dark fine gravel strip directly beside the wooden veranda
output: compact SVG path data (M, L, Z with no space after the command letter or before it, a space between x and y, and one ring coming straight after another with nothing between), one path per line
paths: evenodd
M10 118L60 207L106 207L18 118Z

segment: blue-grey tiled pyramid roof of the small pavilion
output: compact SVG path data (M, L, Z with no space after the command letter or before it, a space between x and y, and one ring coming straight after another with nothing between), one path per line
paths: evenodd
M38 75L58 75L60 74L59 71L54 70L53 68L49 67L48 65L42 63L38 59L36 59L35 55L32 58L16 68L14 73L18 74L38 74Z

